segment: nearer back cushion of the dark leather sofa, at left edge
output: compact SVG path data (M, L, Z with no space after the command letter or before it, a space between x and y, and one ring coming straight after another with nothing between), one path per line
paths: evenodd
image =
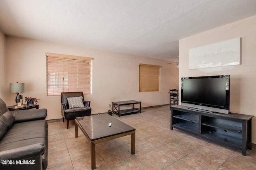
M0 139L2 139L6 131L12 127L13 122L14 117L10 111L6 111L2 116L0 116Z

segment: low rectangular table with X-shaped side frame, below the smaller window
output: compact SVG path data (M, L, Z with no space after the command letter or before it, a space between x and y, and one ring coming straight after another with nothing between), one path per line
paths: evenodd
M134 104L140 104L140 108L134 108ZM132 105L132 109L124 109L120 110L120 106L124 105ZM122 102L112 102L112 111L118 116L121 115L128 115L128 114L133 114L133 113L141 113L141 102L136 101L136 100L129 100L129 101L122 101Z

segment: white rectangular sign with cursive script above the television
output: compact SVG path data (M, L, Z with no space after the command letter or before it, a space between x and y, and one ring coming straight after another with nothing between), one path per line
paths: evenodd
M189 69L241 64L240 49L240 38L189 49Z

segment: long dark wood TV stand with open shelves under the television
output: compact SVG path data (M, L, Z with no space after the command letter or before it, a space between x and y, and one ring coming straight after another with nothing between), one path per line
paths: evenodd
M197 135L234 149L252 149L252 115L205 113L186 106L171 106L171 129Z

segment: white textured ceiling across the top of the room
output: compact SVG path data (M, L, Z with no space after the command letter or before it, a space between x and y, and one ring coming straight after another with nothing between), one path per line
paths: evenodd
M256 0L0 0L6 35L174 61L178 40L256 15Z

